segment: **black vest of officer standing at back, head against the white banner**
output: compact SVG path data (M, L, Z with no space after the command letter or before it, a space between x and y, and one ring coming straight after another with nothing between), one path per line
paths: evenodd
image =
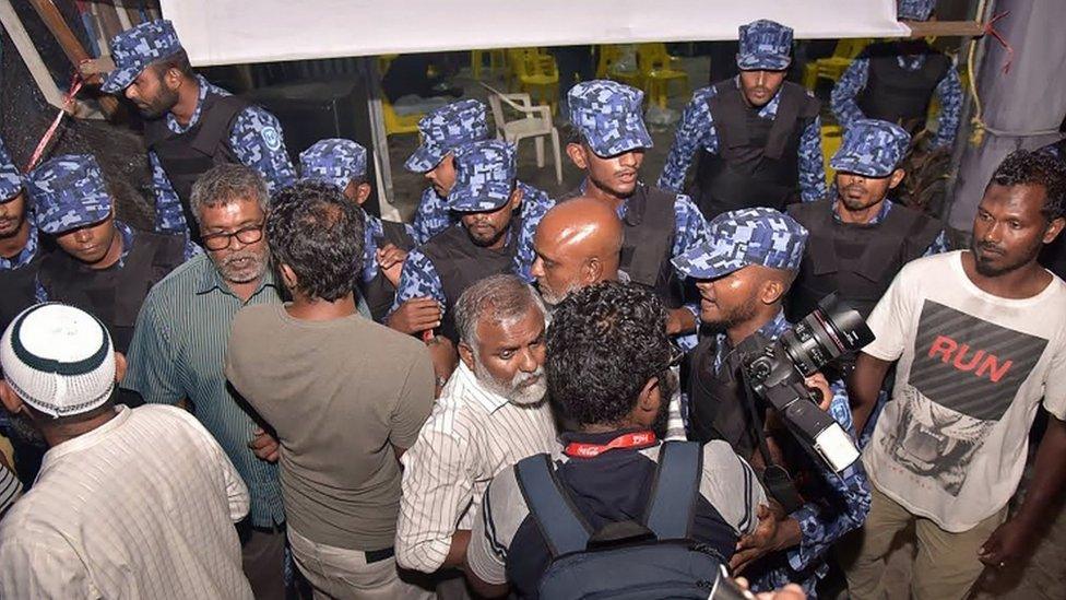
M753 207L784 210L800 200L800 140L818 116L820 104L792 82L784 82L778 114L759 117L730 79L715 84L708 101L718 132L718 154L701 151L692 200L710 221Z

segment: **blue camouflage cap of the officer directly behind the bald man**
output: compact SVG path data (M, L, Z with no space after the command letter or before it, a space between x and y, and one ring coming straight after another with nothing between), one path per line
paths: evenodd
M570 122L597 156L653 145L643 117L644 93L616 81L578 83L567 93Z

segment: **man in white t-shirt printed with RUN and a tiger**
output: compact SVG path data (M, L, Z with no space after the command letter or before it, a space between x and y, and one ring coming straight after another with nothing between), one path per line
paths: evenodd
M853 599L884 597L884 558L911 522L919 600L963 598L984 565L1035 545L1066 480L1066 283L1037 263L1063 230L1064 204L1066 166L1012 153L985 189L970 249L907 264L870 314L877 339L852 380L858 431L899 362L863 455L873 505L843 553ZM1033 479L1006 520L1041 403L1051 417Z

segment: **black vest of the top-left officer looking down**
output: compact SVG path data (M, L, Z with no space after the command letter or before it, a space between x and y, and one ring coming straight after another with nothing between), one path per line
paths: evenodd
M181 210L193 242L200 242L200 227L189 204L192 184L215 165L239 162L229 146L229 131L237 115L248 106L248 102L237 96L209 92L200 109L200 119L183 133L170 131L166 117L144 123L144 141L159 157L163 170L181 199Z

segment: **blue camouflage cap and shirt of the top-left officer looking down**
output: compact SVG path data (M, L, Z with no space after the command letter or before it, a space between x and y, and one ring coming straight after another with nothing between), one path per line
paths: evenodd
M115 60L116 69L108 75L100 90L111 94L120 93L133 83L133 80L150 63L170 57L181 49L177 33L167 20L150 21L120 33L111 39L111 58ZM197 75L196 81L200 95L189 122L179 123L170 113L164 117L167 128L174 133L183 133L200 121L201 109L209 93L230 95L229 92L213 85L201 75ZM296 170L285 152L281 123L266 110L258 106L249 106L237 115L229 131L229 146L241 164L262 174L271 193L296 181ZM152 165L152 185L155 188L156 231L175 233L187 231L181 200L170 184L159 157L150 150L149 161Z

